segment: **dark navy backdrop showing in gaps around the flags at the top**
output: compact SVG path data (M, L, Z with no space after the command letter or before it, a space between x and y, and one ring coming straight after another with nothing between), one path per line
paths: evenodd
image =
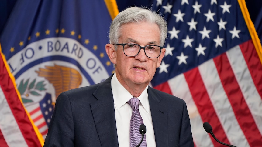
M13 6L17 0L0 0L0 35L5 27ZM129 6L151 7L153 0L116 0L119 11ZM255 25L258 36L262 40L262 0L246 0L246 6L250 13L250 18Z

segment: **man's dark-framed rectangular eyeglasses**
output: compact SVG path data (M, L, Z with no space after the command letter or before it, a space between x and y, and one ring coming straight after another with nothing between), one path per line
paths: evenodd
M142 47L133 43L118 43L113 45L122 45L124 54L129 57L135 57L140 52L140 49L143 49L148 58L158 58L161 50L164 48L163 46L157 45L147 45Z

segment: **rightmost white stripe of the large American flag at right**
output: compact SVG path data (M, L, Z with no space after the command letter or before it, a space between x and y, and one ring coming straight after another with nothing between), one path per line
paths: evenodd
M226 55L244 99L246 100L246 104L249 107L260 134L262 134L262 100L257 92L239 45L227 51Z

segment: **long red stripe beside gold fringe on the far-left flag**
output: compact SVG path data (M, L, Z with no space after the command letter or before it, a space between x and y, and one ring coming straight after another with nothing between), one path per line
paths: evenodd
M25 138L28 146L42 146L36 135L33 125L30 122L26 111L16 93L16 89L13 85L13 82L7 72L5 64L3 62L2 56L0 55L0 85L2 91L5 95L6 101L9 104L9 107L14 115L16 122Z

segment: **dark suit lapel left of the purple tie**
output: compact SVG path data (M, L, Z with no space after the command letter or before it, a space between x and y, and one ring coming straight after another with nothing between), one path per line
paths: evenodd
M102 147L118 147L111 79L112 76L98 85L93 93L98 101L91 104L91 110Z

